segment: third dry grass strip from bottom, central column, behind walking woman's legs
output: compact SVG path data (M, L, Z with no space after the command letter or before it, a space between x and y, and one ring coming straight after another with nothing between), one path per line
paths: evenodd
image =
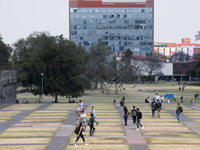
M89 136L89 133L85 133L86 136ZM74 132L71 136L77 136ZM126 136L125 132L94 132L94 136Z

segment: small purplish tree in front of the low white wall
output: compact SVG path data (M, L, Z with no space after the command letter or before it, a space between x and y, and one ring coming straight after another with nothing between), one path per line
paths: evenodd
M146 61L144 62L145 68L144 71L148 73L149 80L151 81L151 76L153 72L160 72L163 65L162 63L154 57L147 57Z

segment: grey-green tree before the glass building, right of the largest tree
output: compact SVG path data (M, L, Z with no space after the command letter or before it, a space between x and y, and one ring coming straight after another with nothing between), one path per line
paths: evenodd
M106 79L106 67L109 65L109 58L112 54L113 52L109 51L109 47L104 45L100 39L89 48L86 54L85 74L94 80L95 88L98 88L99 80Z

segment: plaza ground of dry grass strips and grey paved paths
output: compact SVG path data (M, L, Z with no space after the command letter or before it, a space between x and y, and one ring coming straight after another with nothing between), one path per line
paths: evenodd
M85 112L95 107L96 131L89 136L89 127L82 139L74 146L76 109L79 104L15 104L0 106L0 149L2 150L73 150L73 149L120 149L120 150L198 150L200 147L200 105L181 104L181 123L175 117L176 104L164 103L160 118L152 118L149 104L125 103L140 108L143 130L136 130L132 118L128 126L119 104L88 103Z

